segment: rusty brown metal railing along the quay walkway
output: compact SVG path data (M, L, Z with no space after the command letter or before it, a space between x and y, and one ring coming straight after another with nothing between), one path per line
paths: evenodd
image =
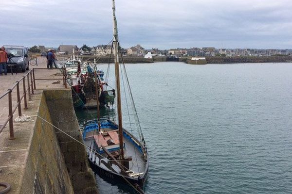
M46 69L47 68L37 68L37 69ZM6 97L8 95L8 118L5 120L4 124L0 126L0 133L2 130L6 127L7 123L9 122L9 139L14 140L14 128L13 128L13 114L18 109L18 116L22 116L21 112L21 101L24 101L24 109L29 109L27 106L27 96L28 100L32 100L32 96L34 95L34 90L36 90L36 81L37 80L63 80L63 85L65 85L65 88L67 88L67 72L65 68L60 68L62 72L62 79L46 79L46 78L35 78L35 69L31 69L28 73L26 73L21 79L16 81L16 83L8 89L4 94L0 96L0 99L3 97ZM20 95L20 89L19 85L23 87L23 94ZM21 87L21 86L20 86ZM12 104L12 92L15 90L17 92L17 103L16 106L13 106Z

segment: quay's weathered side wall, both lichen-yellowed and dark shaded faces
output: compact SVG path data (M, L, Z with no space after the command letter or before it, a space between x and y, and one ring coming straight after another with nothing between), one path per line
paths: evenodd
M97 194L70 90L43 91L20 192ZM51 123L51 124L49 124ZM55 127L58 129L55 129Z

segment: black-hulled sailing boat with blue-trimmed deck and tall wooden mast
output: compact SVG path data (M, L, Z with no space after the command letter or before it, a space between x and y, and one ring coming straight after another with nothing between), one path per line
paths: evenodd
M146 143L140 124L138 128L140 140L123 128L120 70L119 70L119 42L117 22L115 17L115 1L112 0L113 11L113 51L115 63L116 97L118 124L110 119L100 118L97 106L97 119L84 124L83 140L88 146L88 156L93 171L107 180L133 186L139 193L145 185L148 173L148 154ZM125 71L125 66L124 71ZM95 80L97 76L95 72ZM128 83L128 78L127 82ZM97 91L98 84L96 84ZM130 89L130 87L128 87ZM130 97L131 92L130 92ZM97 99L98 100L98 99ZM131 101L133 102L133 101ZM98 104L98 101L97 101ZM133 104L133 108L135 106ZM134 111L136 113L136 111ZM135 115L139 122L138 116Z

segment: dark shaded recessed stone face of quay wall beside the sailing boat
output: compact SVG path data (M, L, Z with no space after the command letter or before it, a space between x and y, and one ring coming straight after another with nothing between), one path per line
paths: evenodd
M44 91L52 122L82 143L77 117L73 109L71 91ZM56 129L56 136L76 194L96 193L95 179L87 161L85 147Z

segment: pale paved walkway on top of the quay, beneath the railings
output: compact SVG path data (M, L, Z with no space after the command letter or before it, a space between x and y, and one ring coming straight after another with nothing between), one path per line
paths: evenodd
M60 89L65 88L63 81L54 83L57 80L37 80L37 79L62 79L62 74L59 69L40 69L47 68L46 59L38 58L38 66L35 67L36 90L34 95L31 95L31 100L28 101L28 109L24 110L24 102L21 102L22 114L36 115L40 103L41 93L44 89ZM29 67L30 69L32 66ZM28 72L28 71L27 71ZM26 73L27 73L26 72ZM0 96L21 79L26 73L18 74L7 73L0 76ZM27 85L27 80L26 85ZM30 80L31 81L31 80ZM23 82L19 83L20 96L23 95ZM16 88L12 92L13 107L17 104ZM28 96L27 96L28 99ZM18 110L15 111L13 119L18 117ZM0 125L8 119L8 95L0 99ZM36 118L32 118L36 119ZM35 122L14 122L15 140L9 140L9 123L0 133L0 182L9 182L12 185L12 190L9 194L19 193L20 178L24 172L24 164L27 158L27 153L30 146L30 140ZM3 187L0 187L0 190Z

